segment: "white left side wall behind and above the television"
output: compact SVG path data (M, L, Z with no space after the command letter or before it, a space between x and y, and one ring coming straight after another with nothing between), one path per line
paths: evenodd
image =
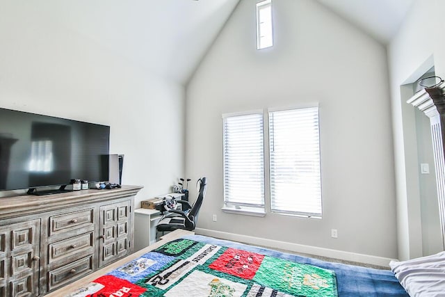
M125 155L123 184L145 186L136 207L168 193L184 174L184 87L40 15L35 5L1 3L0 107L109 125L111 153Z

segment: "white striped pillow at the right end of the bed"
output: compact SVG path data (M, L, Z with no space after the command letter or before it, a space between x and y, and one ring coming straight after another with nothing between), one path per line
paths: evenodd
M398 282L412 297L445 297L445 252L435 255L389 262Z

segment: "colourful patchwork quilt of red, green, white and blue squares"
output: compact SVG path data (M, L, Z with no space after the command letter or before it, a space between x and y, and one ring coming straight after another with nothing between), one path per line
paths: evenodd
M70 297L336 297L336 273L261 252L183 238L165 243Z

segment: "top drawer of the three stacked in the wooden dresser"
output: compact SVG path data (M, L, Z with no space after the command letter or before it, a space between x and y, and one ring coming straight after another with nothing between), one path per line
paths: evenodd
M51 216L49 218L49 236L76 229L93 227L93 223L93 209L71 212L69 214L61 214L59 216Z

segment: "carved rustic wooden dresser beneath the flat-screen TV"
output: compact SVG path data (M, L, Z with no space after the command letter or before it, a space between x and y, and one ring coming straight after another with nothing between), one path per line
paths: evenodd
M130 255L140 188L0 198L0 296L43 296Z

